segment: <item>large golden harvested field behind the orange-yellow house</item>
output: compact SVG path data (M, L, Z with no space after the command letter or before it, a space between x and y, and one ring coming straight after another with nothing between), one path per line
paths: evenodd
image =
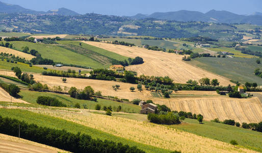
M154 75L157 77L169 76L176 83L186 83L189 79L200 80L201 78L218 79L220 84L227 86L232 83L229 79L217 74L205 71L182 61L181 55L157 52L140 47L129 47L110 43L93 41L82 41L96 47L100 47L122 56L135 58L137 56L144 59L144 64L126 67L128 70L137 71L138 75Z

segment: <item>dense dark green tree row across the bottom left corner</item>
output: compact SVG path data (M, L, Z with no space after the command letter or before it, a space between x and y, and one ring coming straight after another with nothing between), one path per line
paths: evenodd
M41 144L53 146L70 152L145 152L136 146L93 139L86 134L73 134L65 130L40 127L24 121L0 116L0 133L17 137L20 125L20 137Z

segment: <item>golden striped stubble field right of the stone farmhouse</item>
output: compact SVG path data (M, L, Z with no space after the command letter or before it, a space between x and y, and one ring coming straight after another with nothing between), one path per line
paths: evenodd
M262 121L262 103L257 97L238 99L229 97L196 97L153 99L171 110L202 114L204 120L234 119L237 122Z

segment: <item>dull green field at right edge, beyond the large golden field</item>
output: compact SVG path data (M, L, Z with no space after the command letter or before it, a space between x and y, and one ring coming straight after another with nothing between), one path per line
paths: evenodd
M246 58L196 58L189 64L241 83L256 82L262 85L262 79L253 74L256 68L262 69L262 65L255 61Z

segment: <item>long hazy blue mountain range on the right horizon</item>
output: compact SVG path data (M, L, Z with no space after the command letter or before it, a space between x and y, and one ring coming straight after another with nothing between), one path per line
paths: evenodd
M207 13L197 11L181 10L176 12L156 12L150 15L137 14L130 16L134 19L155 18L160 20L176 21L203 21L222 23L250 23L262 25L262 13L255 12L253 15L238 15L228 11L211 10Z

